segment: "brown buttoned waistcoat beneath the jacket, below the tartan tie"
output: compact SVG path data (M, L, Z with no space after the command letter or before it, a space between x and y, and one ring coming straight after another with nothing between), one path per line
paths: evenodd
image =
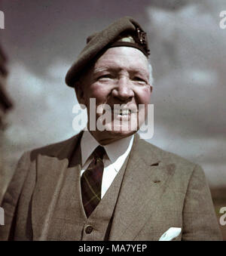
M47 240L108 240L127 161L128 157L99 205L87 218L81 199L81 150L79 147L63 181L48 225Z

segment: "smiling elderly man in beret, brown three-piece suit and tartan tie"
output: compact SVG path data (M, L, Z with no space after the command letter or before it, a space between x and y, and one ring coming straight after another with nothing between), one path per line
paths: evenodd
M2 239L221 239L200 166L135 134L148 115L148 54L131 17L87 39L66 84L87 107L88 129L22 156L2 202Z

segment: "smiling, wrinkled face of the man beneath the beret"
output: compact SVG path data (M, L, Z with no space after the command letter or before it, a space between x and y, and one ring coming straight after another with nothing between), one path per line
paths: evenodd
M148 60L136 48L109 48L81 79L76 93L79 102L87 106L88 128L92 118L90 98L96 99L96 120L104 119L105 129L96 128L90 133L99 143L104 145L130 136L139 130L147 116L151 96Z

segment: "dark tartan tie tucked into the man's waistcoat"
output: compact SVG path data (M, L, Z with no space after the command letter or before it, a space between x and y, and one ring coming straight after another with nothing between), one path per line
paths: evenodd
M101 200L101 184L104 164L102 162L105 149L98 146L93 152L93 160L81 175L81 196L87 217L93 212Z

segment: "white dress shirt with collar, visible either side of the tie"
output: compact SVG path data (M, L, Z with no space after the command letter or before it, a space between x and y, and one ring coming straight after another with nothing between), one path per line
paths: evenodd
M131 135L108 145L101 145L105 148L107 154L107 156L105 155L103 157L104 171L102 174L101 198L105 195L127 159L133 145L133 138L134 135ZM90 131L84 131L81 137L81 175L90 165L92 161L91 155L99 145L99 142L90 134Z

